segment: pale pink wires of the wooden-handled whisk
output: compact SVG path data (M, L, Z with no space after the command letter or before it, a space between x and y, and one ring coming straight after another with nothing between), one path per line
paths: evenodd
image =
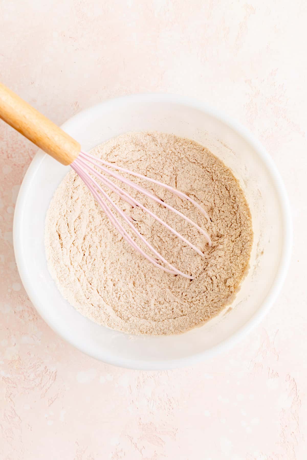
M88 164L88 163L90 164ZM99 164L100 163L100 164ZM83 182L86 184L87 188L92 192L93 196L95 199L98 201L98 204L104 211L104 213L107 215L107 217L110 219L110 222L114 225L116 230L122 235L124 240L130 244L133 249L135 249L137 252L139 252L145 259L147 259L149 262L151 262L153 265L156 267L160 268L161 270L164 270L167 273L173 274L173 275L181 275L184 276L185 278L188 278L190 280L193 279L192 276L186 275L184 272L178 270L174 265L170 264L160 253L156 251L154 247L151 246L151 244L144 238L143 235L135 228L133 225L133 219L128 216L120 207L116 205L116 203L110 198L110 196L102 189L102 187L98 184L98 182L90 175L92 174L95 178L97 178L104 186L108 187L110 190L114 191L118 196L120 196L121 199L126 201L128 204L131 206L138 206L140 209L151 215L154 219L156 219L160 224L162 224L164 227L166 227L169 231L171 231L175 236L181 239L181 241L185 242L189 247L194 249L200 256L204 257L204 254L199 250L198 247L196 247L194 244L192 244L189 240L187 240L184 236L180 235L179 232L174 230L170 225L168 225L166 222L164 222L162 219L160 219L155 213L151 212L147 207L142 205L138 200L133 198L131 195L129 195L125 190L123 190L121 187L119 187L117 184L112 182L110 179L108 179L105 175L99 173L97 169L94 169L93 166L99 167L101 171L104 173L108 174L109 176L118 179L121 181L123 184L129 185L132 187L134 190L137 190L141 193L143 193L145 196L148 198L152 199L153 201L156 201L157 203L161 204L163 207L169 209L170 211L173 211L175 214L179 215L183 219L185 219L187 222L189 222L192 226L197 228L197 230L205 236L209 246L211 246L211 239L208 235L208 233L203 230L199 225L197 225L195 222L193 222L191 219L189 219L185 214L181 213L177 209L175 209L172 206L169 206L167 203L162 201L160 198L157 196L153 195L151 192L148 190L144 189L143 187L139 186L138 184L133 183L129 179L121 176L120 174L115 173L114 171L110 171L107 167L111 167L113 169L116 169L118 171L121 171L126 174L130 174L134 177L138 177L144 180L147 180L148 182L157 184L161 187L163 187L166 190L169 190L173 192L175 195L180 196L183 199L186 199L190 201L194 206L196 206L201 213L206 217L206 219L210 222L210 218L206 211L192 198L189 196L185 195L185 193L180 192L180 190L174 189L170 185L163 184L162 182L159 182L155 179L149 178L147 176L143 176L142 174L135 173L133 171L130 171L129 169L125 169L123 167L119 167L115 165L114 163L110 163L108 161L100 160L88 153L81 152L80 155L77 157L75 161L71 163L72 169L77 173L80 178L83 180ZM102 166L100 166L102 165ZM140 238L140 240L151 250L153 254L155 254L157 259L154 259L145 251L139 247L139 245L133 240L133 238L127 233L127 231L124 229L120 221L116 218L114 213L111 211L110 207L107 205L107 203L102 199L102 196L106 201L110 203L110 206L115 209L115 211L124 219L126 224L131 228L133 233ZM159 264L158 262L161 261L164 265L167 265L167 267L164 267L163 265Z

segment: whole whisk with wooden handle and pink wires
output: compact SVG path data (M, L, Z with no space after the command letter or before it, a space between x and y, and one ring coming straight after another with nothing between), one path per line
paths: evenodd
M145 257L149 262L155 265L157 268L164 270L167 273L173 275L181 275L185 278L193 279L192 276L187 275L181 270L178 270L174 265L170 264L164 257L156 251L156 249L144 238L144 236L137 230L133 225L133 219L125 213L108 195L104 190L112 190L115 192L122 200L126 201L133 207L139 207L145 213L148 213L151 217L156 219L160 224L166 227L170 232L175 236L180 238L186 245L191 247L197 254L204 257L203 252L179 232L174 230L170 225L160 219L155 213L150 209L145 207L140 201L133 196L129 195L125 190L123 190L119 185L110 180L114 178L117 181L122 182L125 185L137 190L140 193L143 193L147 198L150 198L156 203L159 203L162 207L167 208L169 211L177 214L180 218L184 219L186 222L195 227L206 239L209 246L211 246L211 240L208 233L203 230L199 225L189 219L185 214L181 213L174 207L168 205L166 202L158 198L154 193L135 184L133 181L117 173L116 171L125 173L126 175L134 176L142 180L146 180L153 184L156 184L169 192L172 192L174 195L179 196L183 200L190 201L200 213L205 217L207 222L210 222L209 215L195 200L190 196L181 192L180 190L174 189L170 185L163 184L153 178L144 176L142 174L130 171L120 166L116 166L114 163L101 160L94 157L86 152L81 151L81 145L73 138L71 138L66 132L61 128L56 126L52 121L48 120L44 115L34 109L31 105L26 103L23 99L19 98L17 94L12 92L6 86L0 83L0 118L9 125L11 125L18 132L23 134L26 138L44 150L47 154L51 155L55 160L59 161L65 166L70 165L72 169L77 173L83 182L87 185L87 188L92 192L95 199L98 201L104 213L110 219L110 222L122 235L124 240L129 243L133 249L138 251L142 256ZM115 171L114 171L115 170ZM104 188L103 188L104 187ZM136 235L151 253L155 257L147 254L139 244L129 235L127 230L123 227L120 220L116 217L116 214L112 211L115 211L119 214L124 222L130 227L134 235Z

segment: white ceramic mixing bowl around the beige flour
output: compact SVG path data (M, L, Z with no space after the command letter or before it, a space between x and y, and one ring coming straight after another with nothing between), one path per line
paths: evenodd
M101 361L134 369L189 365L230 347L268 311L284 281L292 227L284 185L271 157L242 126L205 104L170 95L138 94L98 104L63 129L83 150L127 131L160 131L193 139L232 169L252 213L254 245L248 276L231 309L185 334L131 336L89 319L63 299L46 264L44 222L54 191L69 171L39 151L23 179L14 216L14 248L24 288L60 336ZM191 179L192 180L192 179Z

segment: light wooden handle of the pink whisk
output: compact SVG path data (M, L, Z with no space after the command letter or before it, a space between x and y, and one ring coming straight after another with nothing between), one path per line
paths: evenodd
M65 166L81 151L75 139L2 83L0 118Z

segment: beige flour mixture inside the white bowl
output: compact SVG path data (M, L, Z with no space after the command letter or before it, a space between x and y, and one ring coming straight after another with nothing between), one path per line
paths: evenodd
M45 230L48 267L64 298L93 321L130 334L182 333L216 315L239 287L253 240L249 207L231 171L203 146L160 132L126 133L91 153L196 199L211 222L188 201L133 178L207 230L212 247L183 219L124 187L200 247L202 258L148 214L106 189L148 241L195 278L165 273L122 239L70 171L52 198Z

